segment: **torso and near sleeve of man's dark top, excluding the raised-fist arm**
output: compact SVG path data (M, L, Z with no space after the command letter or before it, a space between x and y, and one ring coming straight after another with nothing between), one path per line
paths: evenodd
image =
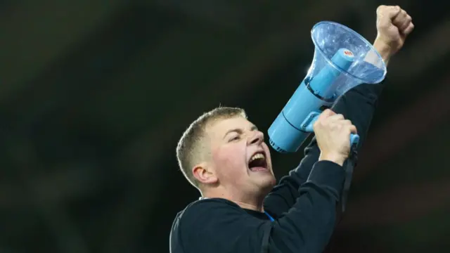
M292 209L274 222L257 219L233 202L195 202L174 226L172 249L184 252L322 252L335 224L344 173L338 164L316 162Z

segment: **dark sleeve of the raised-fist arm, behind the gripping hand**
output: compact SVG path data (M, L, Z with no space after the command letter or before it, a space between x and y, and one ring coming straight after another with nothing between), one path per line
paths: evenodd
M361 84L347 91L333 105L332 110L334 112L344 115L356 126L360 137L356 150L360 150L361 145L366 141L367 132L383 87L383 83ZM305 148L304 158L300 164L290 171L287 176L284 176L278 183L278 186L264 200L264 207L270 210L271 214L280 216L294 205L299 195L298 188L308 178L313 164L319 159L319 155L320 150L314 137L307 148ZM351 177L351 175L349 176Z

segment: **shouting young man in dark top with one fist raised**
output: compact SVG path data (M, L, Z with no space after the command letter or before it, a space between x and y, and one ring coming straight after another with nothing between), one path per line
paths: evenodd
M374 46L385 62L413 30L399 6L377 9ZM364 142L382 85L360 85L325 110L300 165L278 186L264 135L238 108L195 120L176 149L202 198L172 226L172 253L323 252L333 233L349 156L349 134ZM345 119L345 117L347 119Z

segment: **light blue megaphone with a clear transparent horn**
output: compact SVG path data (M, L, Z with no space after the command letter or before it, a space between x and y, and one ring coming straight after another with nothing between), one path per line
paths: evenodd
M318 22L311 30L315 51L300 86L269 127L269 143L279 153L296 152L313 131L320 113L359 84L378 84L386 65L364 37L337 22ZM349 139L354 146L359 136Z

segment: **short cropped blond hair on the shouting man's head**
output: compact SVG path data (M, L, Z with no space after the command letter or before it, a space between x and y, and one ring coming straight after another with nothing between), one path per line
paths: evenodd
M195 119L184 131L178 145L176 146L176 158L181 172L195 188L199 188L199 182L195 179L192 168L206 159L209 147L205 143L205 131L207 124L217 119L229 119L232 117L244 117L247 119L245 110L241 108L218 107Z

